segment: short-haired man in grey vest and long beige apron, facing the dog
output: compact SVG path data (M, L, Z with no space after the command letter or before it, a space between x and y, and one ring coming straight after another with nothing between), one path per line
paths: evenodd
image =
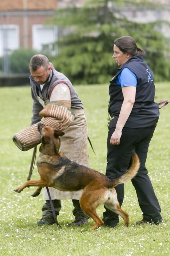
M61 111L61 107L66 111L70 110L75 117L70 126L65 125L65 135L61 137L60 151L67 158L88 166L87 120L82 102L72 83L65 75L56 71L47 57L41 54L31 58L30 73L33 99L31 125L37 124L42 117L45 117L41 123L45 122L44 124L55 128L57 118L53 111L51 112L52 107L55 108L57 115L62 115L63 120L67 120L67 116L65 111ZM50 119L48 119L49 117ZM50 120L53 120L52 124ZM49 188L49 191L56 215L59 215L61 210L60 199L72 199L75 220L69 225L79 226L88 223L89 216L81 209L79 203L81 191L63 192L55 188ZM43 199L46 200L46 203L42 207L42 218L37 222L37 225L53 224L55 222L46 188L43 188Z

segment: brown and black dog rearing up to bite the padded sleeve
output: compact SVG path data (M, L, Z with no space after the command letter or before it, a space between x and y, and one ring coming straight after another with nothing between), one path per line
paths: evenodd
M80 205L95 222L91 229L96 229L104 223L96 212L96 208L102 203L109 210L119 214L124 219L124 225L128 226L128 213L120 208L114 187L135 177L140 166L137 154L132 154L132 165L126 173L115 180L109 180L104 174L79 165L66 158L63 153L59 153L59 136L62 136L63 132L54 132L52 128L42 124L39 124L39 131L42 135L37 161L40 179L26 181L15 191L20 193L26 187L38 186L39 188L32 195L37 196L42 187L53 187L61 191L83 189Z

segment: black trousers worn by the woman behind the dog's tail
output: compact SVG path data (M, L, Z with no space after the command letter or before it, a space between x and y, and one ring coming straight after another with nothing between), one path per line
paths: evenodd
M110 179L120 177L126 172L131 165L131 153L135 150L140 159L140 169L138 174L132 179L132 184L135 187L138 197L139 206L143 212L145 220L160 220L161 208L157 197L155 196L150 178L147 175L145 167L148 147L153 136L154 128L137 129L137 128L123 128L119 145L111 145L110 139L115 128L109 128L108 131L108 154L107 154L107 169L106 176ZM120 206L123 203L124 185L120 184L115 187L117 192L117 199ZM117 214L108 210L103 213L103 221L107 226L114 226L119 223Z

